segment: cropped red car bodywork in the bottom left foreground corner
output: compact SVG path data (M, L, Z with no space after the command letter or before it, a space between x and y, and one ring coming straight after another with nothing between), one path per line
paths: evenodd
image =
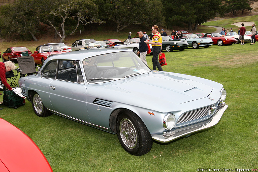
M9 122L0 118L0 171L53 172L38 146Z

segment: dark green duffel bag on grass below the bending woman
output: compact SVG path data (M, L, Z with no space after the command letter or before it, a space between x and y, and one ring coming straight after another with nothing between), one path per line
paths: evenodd
M18 107L25 105L25 101L22 97L18 96L14 91L5 90L3 94L3 103L9 108L17 109Z

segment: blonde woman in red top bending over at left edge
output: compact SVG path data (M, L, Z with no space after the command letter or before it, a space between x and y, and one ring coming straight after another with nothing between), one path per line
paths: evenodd
M15 66L14 62L12 62L12 61L7 61L7 62L4 62L4 63L0 62L0 78L1 78L2 83L9 90L13 90L13 89L6 81L5 72L9 72L10 70L14 70L14 69L16 69L16 66Z

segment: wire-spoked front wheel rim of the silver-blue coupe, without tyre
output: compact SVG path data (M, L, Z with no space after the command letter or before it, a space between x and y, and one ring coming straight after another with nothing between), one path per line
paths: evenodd
M120 130L120 136L123 140L123 143L126 145L126 147L129 149L135 148L137 143L137 135L132 122L127 118L123 118L120 121L119 130Z

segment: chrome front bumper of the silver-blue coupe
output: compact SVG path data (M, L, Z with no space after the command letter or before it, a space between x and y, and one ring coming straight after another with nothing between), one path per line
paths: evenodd
M156 140L156 141L161 142L161 143L167 143L167 142L170 142L170 141L175 140L177 138L180 138L180 137L198 132L200 130L210 128L210 127L216 125L220 121L223 113L225 112L225 110L227 108L228 108L228 105L224 105L223 108L221 108L219 111L217 111L214 114L213 118L211 118L208 123L207 123L207 121L205 121L206 123L199 123L199 124L196 124L196 125L192 125L191 127L186 127L185 129L182 129L179 132L170 131L168 133L170 133L171 136L168 136L167 138L163 134L162 135L151 134L151 138L153 140Z

